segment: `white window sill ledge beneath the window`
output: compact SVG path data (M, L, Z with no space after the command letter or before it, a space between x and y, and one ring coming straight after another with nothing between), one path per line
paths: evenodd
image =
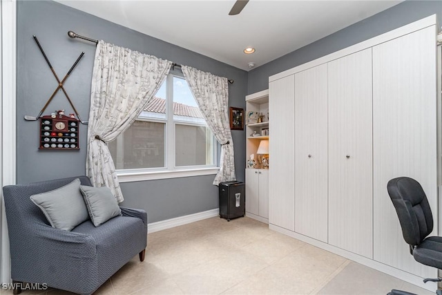
M189 176L215 175L220 170L219 167L186 169L180 171L137 171L137 172L117 172L119 182L134 182L144 180L158 180L169 178L183 178Z

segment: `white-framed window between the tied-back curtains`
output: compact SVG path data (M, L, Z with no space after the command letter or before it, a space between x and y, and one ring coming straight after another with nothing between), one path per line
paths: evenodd
M138 119L108 144L117 171L215 168L216 141L189 85L169 74Z

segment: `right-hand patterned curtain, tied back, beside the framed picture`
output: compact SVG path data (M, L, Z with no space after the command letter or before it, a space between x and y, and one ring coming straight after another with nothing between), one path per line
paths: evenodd
M182 73L200 107L207 125L221 144L220 171L213 184L236 180L233 140L229 123L229 86L227 78L182 66Z

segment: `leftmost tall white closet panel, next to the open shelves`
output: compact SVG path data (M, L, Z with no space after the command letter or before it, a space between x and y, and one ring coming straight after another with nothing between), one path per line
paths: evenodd
M295 77L269 83L269 223L294 231Z

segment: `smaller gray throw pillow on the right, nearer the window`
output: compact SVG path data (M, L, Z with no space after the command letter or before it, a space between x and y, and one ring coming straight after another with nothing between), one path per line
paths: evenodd
M99 227L99 225L115 216L122 215L117 199L115 199L111 189L108 187L80 185L80 190L83 194L84 202L86 202L90 219L95 227Z

